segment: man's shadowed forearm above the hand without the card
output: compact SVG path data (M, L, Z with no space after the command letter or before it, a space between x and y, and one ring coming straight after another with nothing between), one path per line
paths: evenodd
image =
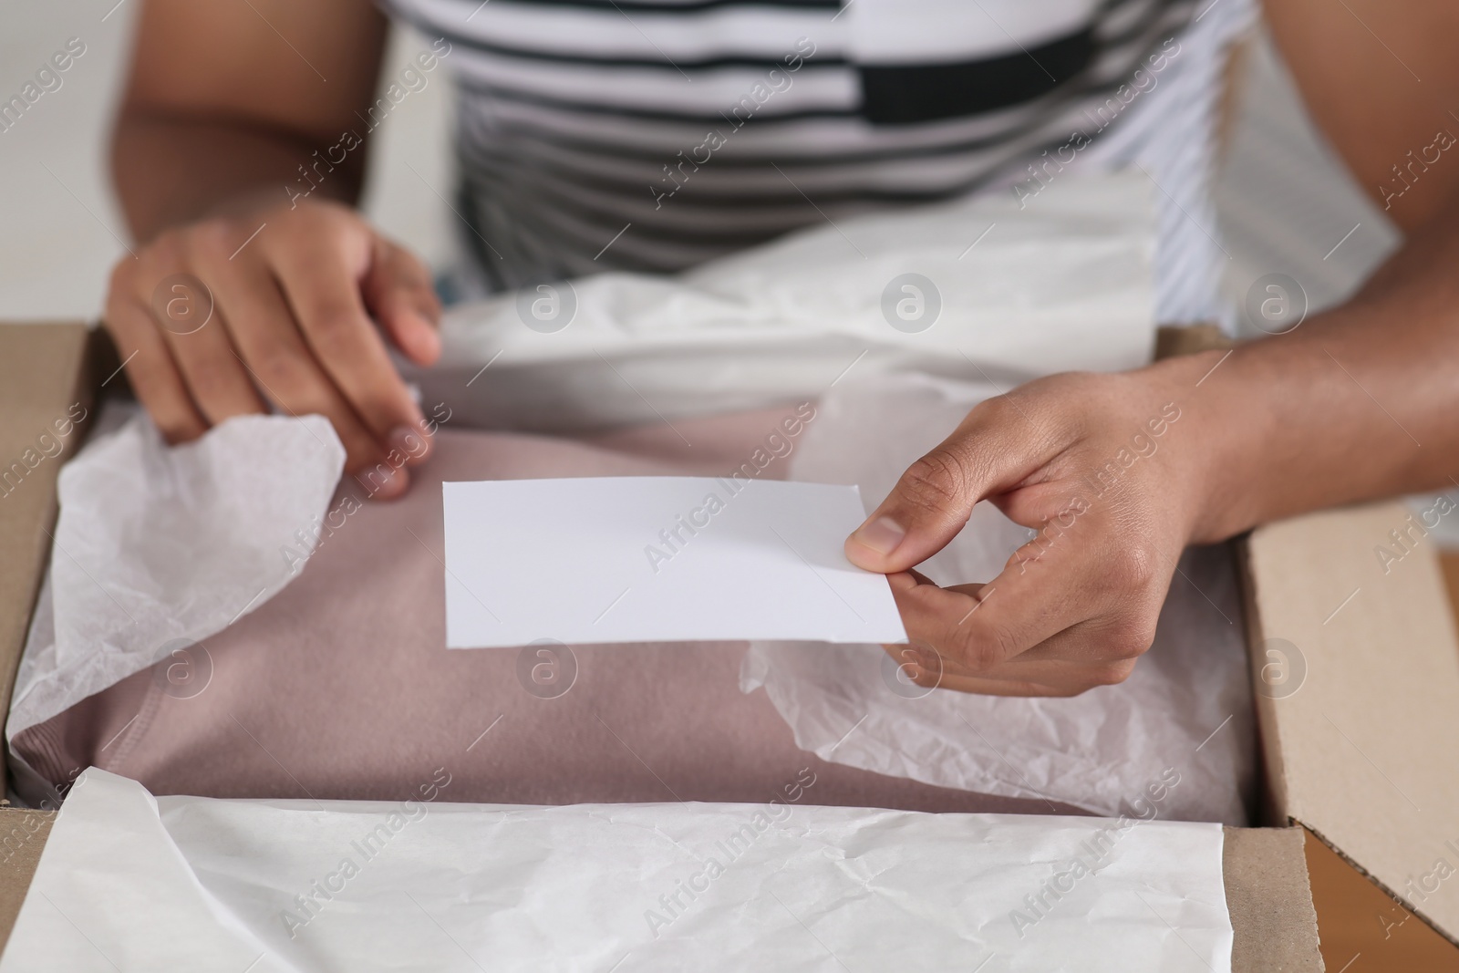
M283 128L124 108L112 136L112 178L133 235L147 241L244 198L285 203L309 193L353 204L363 146L338 165L315 166L325 149Z

